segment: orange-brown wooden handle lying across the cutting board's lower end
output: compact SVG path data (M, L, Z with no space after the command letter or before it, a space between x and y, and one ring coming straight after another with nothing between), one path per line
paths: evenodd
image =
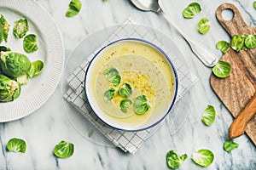
M256 94L254 94L253 99L249 101L246 107L241 111L241 113L236 117L235 121L230 125L230 139L241 136L244 133L247 123L256 114Z

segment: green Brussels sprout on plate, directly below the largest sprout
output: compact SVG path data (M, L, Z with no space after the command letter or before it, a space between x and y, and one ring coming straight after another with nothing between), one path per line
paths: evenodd
M9 79L4 75L0 75L0 101L13 101L20 96L21 85L15 80Z

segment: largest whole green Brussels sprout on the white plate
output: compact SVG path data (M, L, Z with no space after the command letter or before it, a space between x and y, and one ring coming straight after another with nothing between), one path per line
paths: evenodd
M31 62L24 54L15 52L1 52L0 67L3 73L16 79L25 75L31 68Z

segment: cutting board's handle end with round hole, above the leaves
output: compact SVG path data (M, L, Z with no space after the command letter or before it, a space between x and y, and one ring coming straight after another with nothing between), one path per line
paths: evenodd
M224 20L222 13L225 9L231 10L233 12L233 18L231 20ZM232 3L221 4L216 11L216 17L221 26L224 27L231 37L234 35L250 34L249 26L242 19L241 13L238 11L236 6Z

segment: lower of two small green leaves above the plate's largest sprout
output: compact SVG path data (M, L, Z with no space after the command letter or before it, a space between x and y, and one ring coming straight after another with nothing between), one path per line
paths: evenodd
M38 50L38 38L34 34L29 34L24 37L23 48L26 53L33 53Z

